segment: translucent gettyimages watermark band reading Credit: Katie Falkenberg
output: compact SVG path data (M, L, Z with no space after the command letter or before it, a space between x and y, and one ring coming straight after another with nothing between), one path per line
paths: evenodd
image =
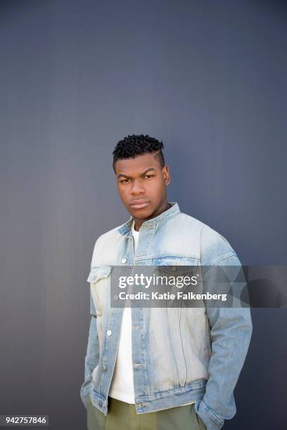
M110 266L92 294L113 308L285 307L286 275L286 266Z

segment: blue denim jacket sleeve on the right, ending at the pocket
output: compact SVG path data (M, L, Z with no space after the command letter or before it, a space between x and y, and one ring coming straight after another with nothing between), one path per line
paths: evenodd
M224 266L230 291L238 274L238 271L234 271L234 266L241 266L238 257L234 252L231 255L229 253L229 256L212 263L215 264ZM215 287L210 268L203 275L203 284L206 291L211 292ZM238 284L236 285L238 294ZM208 430L218 430L222 428L224 419L231 419L236 414L234 388L248 352L253 325L249 307L205 306L205 309L210 325L212 354L205 395L196 403L195 408Z

